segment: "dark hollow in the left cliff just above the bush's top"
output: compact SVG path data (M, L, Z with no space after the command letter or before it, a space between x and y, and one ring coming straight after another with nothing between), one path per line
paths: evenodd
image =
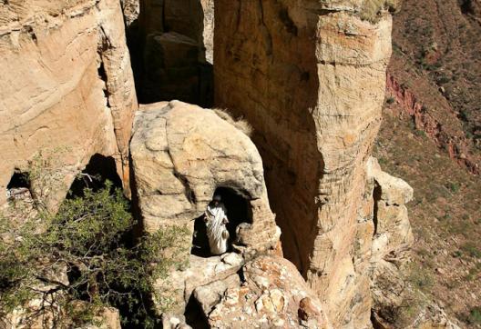
M86 188L97 192L105 186L107 180L112 182L113 188L122 187L122 180L117 174L115 159L112 156L93 155L86 168L77 175L70 186L67 198L83 196Z

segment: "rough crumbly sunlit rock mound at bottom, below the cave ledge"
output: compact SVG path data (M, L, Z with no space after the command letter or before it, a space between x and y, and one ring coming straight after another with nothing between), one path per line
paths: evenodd
M212 328L331 328L324 305L295 266L261 256L224 281L194 292Z

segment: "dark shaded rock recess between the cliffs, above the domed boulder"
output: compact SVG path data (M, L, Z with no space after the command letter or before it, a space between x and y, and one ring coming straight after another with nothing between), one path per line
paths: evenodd
M213 0L141 0L140 100L212 103Z

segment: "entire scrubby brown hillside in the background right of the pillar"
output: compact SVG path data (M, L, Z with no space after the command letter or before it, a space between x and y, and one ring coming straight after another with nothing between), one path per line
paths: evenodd
M479 1L403 2L376 146L383 167L414 187L410 280L463 327L481 325L479 8Z

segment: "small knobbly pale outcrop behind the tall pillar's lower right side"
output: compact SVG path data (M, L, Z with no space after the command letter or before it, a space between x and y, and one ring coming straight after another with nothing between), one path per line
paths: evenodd
M400 268L409 259L414 243L407 204L413 198L413 188L402 179L381 170L377 160L367 163L368 186L374 195L374 237L371 246L371 290L373 314L393 320L393 310L402 306L409 294Z

